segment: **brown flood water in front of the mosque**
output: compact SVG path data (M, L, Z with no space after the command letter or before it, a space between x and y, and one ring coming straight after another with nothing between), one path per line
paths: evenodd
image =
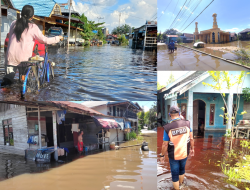
M192 47L193 44L185 44ZM205 48L199 48L200 51L224 58L234 60L235 56L226 51L212 50L207 47L228 47L249 48L249 42L235 41L226 44L206 44ZM163 70L247 70L245 67L235 65L209 55L193 51L191 49L177 46L177 51L169 54L167 45L157 46L157 69ZM249 69L248 69L249 70Z

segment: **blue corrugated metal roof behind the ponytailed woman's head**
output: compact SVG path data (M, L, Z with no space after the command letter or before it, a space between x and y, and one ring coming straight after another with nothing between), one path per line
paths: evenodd
M49 17L56 2L54 0L12 0L13 6L20 11L24 5L31 5L34 7L35 15Z

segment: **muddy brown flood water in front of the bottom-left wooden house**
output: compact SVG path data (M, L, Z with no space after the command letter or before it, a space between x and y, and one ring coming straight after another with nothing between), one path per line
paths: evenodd
M135 146L99 152L81 156L60 167L55 164L39 167L18 156L0 154L0 189L154 190L157 185L156 138L156 133L144 136L149 151L141 151L140 146ZM129 141L120 146L140 142Z

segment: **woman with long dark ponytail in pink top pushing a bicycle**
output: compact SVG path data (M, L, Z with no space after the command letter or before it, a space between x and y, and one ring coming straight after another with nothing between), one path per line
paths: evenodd
M39 27L31 20L34 18L34 8L25 5L21 18L12 22L9 31L9 44L5 56L5 77L1 86L14 82L17 66L32 57L35 40L42 44L54 44L63 39L62 36L47 38ZM23 71L19 71L21 73Z

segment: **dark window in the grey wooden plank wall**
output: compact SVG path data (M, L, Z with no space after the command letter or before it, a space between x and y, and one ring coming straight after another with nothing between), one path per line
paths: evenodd
M12 119L3 120L2 123L3 123L4 145L14 146Z

